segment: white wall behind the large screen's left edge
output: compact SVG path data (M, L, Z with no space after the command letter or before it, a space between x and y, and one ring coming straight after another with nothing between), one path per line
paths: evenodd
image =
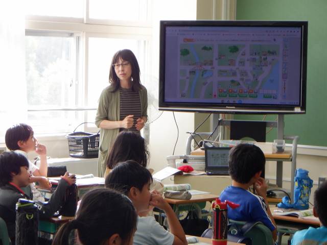
M195 0L153 0L152 1L152 42L151 42L151 77L155 84L146 84L148 92L158 99L158 75L159 75L159 21L196 19ZM150 91L149 91L150 90ZM152 115L152 116L151 116ZM150 112L150 120L158 115L155 106ZM185 153L185 144L188 134L185 132L194 130L194 113L175 112L179 127L179 138L176 145L175 155ZM164 112L162 116L150 125L150 167L155 171L167 165L166 157L173 154L177 138L177 129L172 112Z

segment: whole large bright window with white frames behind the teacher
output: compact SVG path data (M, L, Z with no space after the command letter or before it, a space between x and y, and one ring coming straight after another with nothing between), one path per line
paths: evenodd
M28 5L24 121L35 132L72 132L81 122L94 122L116 51L131 49L145 74L148 0L30 0ZM98 129L87 124L84 130Z

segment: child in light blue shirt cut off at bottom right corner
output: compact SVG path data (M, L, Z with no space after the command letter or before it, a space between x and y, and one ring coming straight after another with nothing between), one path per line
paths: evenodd
M313 215L319 218L320 227L297 231L292 238L292 245L327 244L327 181L315 191Z

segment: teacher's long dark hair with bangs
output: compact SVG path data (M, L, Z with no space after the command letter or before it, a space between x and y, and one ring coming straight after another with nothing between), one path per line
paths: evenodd
M141 90L142 85L141 85L141 81L139 79L141 71L139 70L138 62L137 62L135 55L130 50L119 50L113 55L111 65L110 65L109 83L111 83L114 86L114 89L112 92L115 92L116 90L118 90L120 88L120 80L117 77L116 72L113 67L113 64L117 63L120 58L124 61L128 61L131 64L131 67L132 67L132 76L131 76L132 87L131 87L131 89L132 89L132 91Z

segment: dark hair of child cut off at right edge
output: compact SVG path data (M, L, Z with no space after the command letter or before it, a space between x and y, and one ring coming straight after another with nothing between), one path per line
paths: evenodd
M314 194L314 207L321 224L327 227L327 181L323 182Z

